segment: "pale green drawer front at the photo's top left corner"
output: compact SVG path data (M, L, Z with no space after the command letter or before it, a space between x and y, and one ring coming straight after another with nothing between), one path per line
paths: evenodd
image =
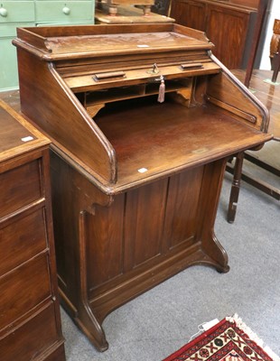
M33 1L4 1L0 4L0 23L35 21Z

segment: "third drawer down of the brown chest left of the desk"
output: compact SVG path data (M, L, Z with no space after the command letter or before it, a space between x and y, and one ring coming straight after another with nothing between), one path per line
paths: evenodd
M51 296L47 255L0 277L0 325L4 329ZM41 335L42 336L42 335Z

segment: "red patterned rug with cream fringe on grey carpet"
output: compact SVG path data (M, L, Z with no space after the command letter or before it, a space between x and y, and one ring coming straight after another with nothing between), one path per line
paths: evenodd
M163 361L279 361L237 315L222 319Z

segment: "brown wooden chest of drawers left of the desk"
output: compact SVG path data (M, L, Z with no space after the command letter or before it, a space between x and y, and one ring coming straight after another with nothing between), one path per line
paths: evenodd
M0 100L0 358L62 361L49 143Z

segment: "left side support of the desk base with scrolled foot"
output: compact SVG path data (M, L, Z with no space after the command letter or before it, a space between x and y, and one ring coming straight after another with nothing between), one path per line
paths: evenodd
M51 180L61 305L98 351L106 351L108 344L102 322L89 305L86 224L89 212L94 212L92 199L105 207L109 198L54 152Z

